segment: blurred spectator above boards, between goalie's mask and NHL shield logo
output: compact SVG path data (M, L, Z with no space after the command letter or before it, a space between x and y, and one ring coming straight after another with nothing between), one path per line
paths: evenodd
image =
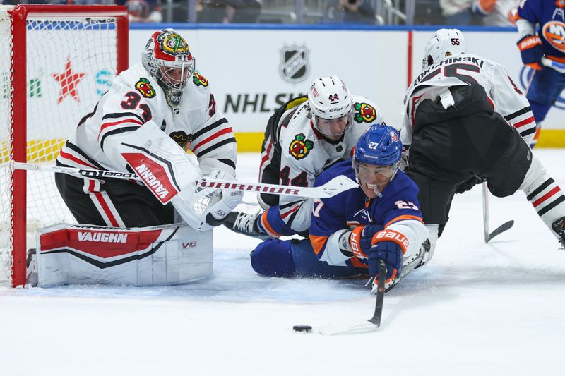
M199 23L256 23L261 14L260 0L198 1Z

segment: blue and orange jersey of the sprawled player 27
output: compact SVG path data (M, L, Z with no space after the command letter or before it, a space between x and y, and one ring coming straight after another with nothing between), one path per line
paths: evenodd
M335 176L345 175L355 181L355 173L350 160L335 164L323 171L316 178L314 186L321 186ZM328 253L340 252L337 236L338 231L352 229L355 226L374 225L382 229L394 229L403 234L410 246L405 256L415 253L428 237L428 231L422 221L420 204L417 195L418 188L402 171L398 171L393 181L388 183L381 193L382 197L369 199L359 188L346 190L331 198L314 202L311 216L310 241L319 260L330 265L338 265L331 260ZM367 267L367 260L354 256L344 261L345 265Z

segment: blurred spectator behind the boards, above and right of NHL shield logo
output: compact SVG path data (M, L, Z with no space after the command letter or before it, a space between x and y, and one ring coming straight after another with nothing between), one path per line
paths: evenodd
M324 15L326 23L375 23L375 10L367 0L330 0Z

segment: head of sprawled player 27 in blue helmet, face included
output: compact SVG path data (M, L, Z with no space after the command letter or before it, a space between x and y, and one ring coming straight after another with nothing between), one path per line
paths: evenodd
M398 131L374 124L357 141L352 165L355 179L368 198L380 196L398 172L402 142Z

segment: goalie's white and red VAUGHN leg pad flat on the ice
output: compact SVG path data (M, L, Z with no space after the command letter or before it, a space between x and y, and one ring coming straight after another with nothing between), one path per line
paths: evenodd
M40 287L186 284L213 272L212 231L185 224L130 229L55 224L37 231L28 268L28 283L37 273Z

